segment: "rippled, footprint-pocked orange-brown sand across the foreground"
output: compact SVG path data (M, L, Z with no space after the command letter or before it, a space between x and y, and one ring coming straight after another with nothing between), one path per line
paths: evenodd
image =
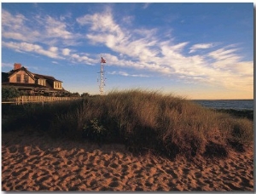
M228 159L135 156L124 145L2 134L3 191L253 191L253 146Z

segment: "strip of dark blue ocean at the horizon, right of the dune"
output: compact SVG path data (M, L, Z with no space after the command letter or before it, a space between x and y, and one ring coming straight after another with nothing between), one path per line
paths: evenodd
M253 100L192 100L213 109L253 110Z

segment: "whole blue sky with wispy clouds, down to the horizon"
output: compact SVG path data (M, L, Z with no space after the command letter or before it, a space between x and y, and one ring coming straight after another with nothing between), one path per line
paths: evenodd
M253 99L253 3L2 3L2 71L99 94L101 54L106 94Z

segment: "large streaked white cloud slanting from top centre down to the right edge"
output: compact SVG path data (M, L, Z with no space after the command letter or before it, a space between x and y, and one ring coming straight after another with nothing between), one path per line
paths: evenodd
M204 55L188 56L184 48L189 42L174 43L172 37L168 41L162 41L155 29L127 29L117 24L110 12L87 14L78 21L82 26L90 26L90 33L87 34L90 41L104 44L119 53L120 58L124 60L112 60L113 56L109 56L111 60L107 59L116 66L154 71L166 76L179 77L187 83L200 82L226 88L253 88L252 75L249 74L252 72L249 66L253 62L248 61L247 70L239 70L237 65L242 61L241 56L236 54L238 48L234 45L217 48ZM189 48L189 53L213 47L217 47L217 43L194 44ZM132 60L127 60L125 56L131 57ZM123 73L123 76L125 75L127 74ZM243 80L247 81L240 82L238 77L243 77Z

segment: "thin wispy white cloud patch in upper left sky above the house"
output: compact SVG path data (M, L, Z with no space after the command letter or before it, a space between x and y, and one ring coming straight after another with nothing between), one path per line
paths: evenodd
M26 43L44 43L49 46L78 44L81 35L68 31L68 25L62 17L57 20L49 15L35 15L27 19L22 14L10 14L2 11L3 38ZM29 36L28 36L29 35Z

